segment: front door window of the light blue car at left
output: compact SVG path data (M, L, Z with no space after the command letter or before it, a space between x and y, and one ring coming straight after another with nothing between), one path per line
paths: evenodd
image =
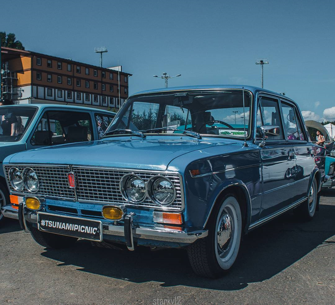
M31 138L32 145L58 145L93 139L87 112L46 111Z

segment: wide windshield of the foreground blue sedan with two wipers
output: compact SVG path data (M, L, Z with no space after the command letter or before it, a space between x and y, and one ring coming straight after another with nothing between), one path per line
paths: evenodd
M244 138L245 127L248 137L251 94L245 91L244 99L245 110L242 90L134 96L123 105L105 134L113 133L116 129L130 129L146 134L182 133L185 130ZM150 130L155 128L161 130Z

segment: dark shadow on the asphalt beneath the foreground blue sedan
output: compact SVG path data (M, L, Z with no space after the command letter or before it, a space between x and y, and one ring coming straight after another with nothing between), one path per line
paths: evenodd
M215 290L239 290L248 283L275 276L307 255L335 234L335 205L320 205L311 222L298 222L292 213L275 219L248 234L241 243L233 268L222 278L212 280L196 276L187 253L180 249L135 251L92 247L80 240L63 250L45 249L41 255L75 265L80 271L109 278L143 283L160 282L161 286L185 285Z

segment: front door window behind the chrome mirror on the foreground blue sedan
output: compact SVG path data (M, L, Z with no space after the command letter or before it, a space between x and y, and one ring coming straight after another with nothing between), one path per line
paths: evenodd
M261 97L259 99L259 109L257 111L257 119L256 119L256 130L257 137L260 137L260 129L261 125L277 125L280 129L279 136L268 136L269 140L282 140L284 139L283 127L280 119L280 110L279 110L279 102L276 99L271 99L267 97Z

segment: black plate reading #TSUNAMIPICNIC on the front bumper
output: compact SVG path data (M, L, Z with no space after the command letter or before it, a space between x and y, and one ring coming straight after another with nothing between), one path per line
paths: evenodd
M44 232L102 241L102 223L97 220L38 212L37 226Z

